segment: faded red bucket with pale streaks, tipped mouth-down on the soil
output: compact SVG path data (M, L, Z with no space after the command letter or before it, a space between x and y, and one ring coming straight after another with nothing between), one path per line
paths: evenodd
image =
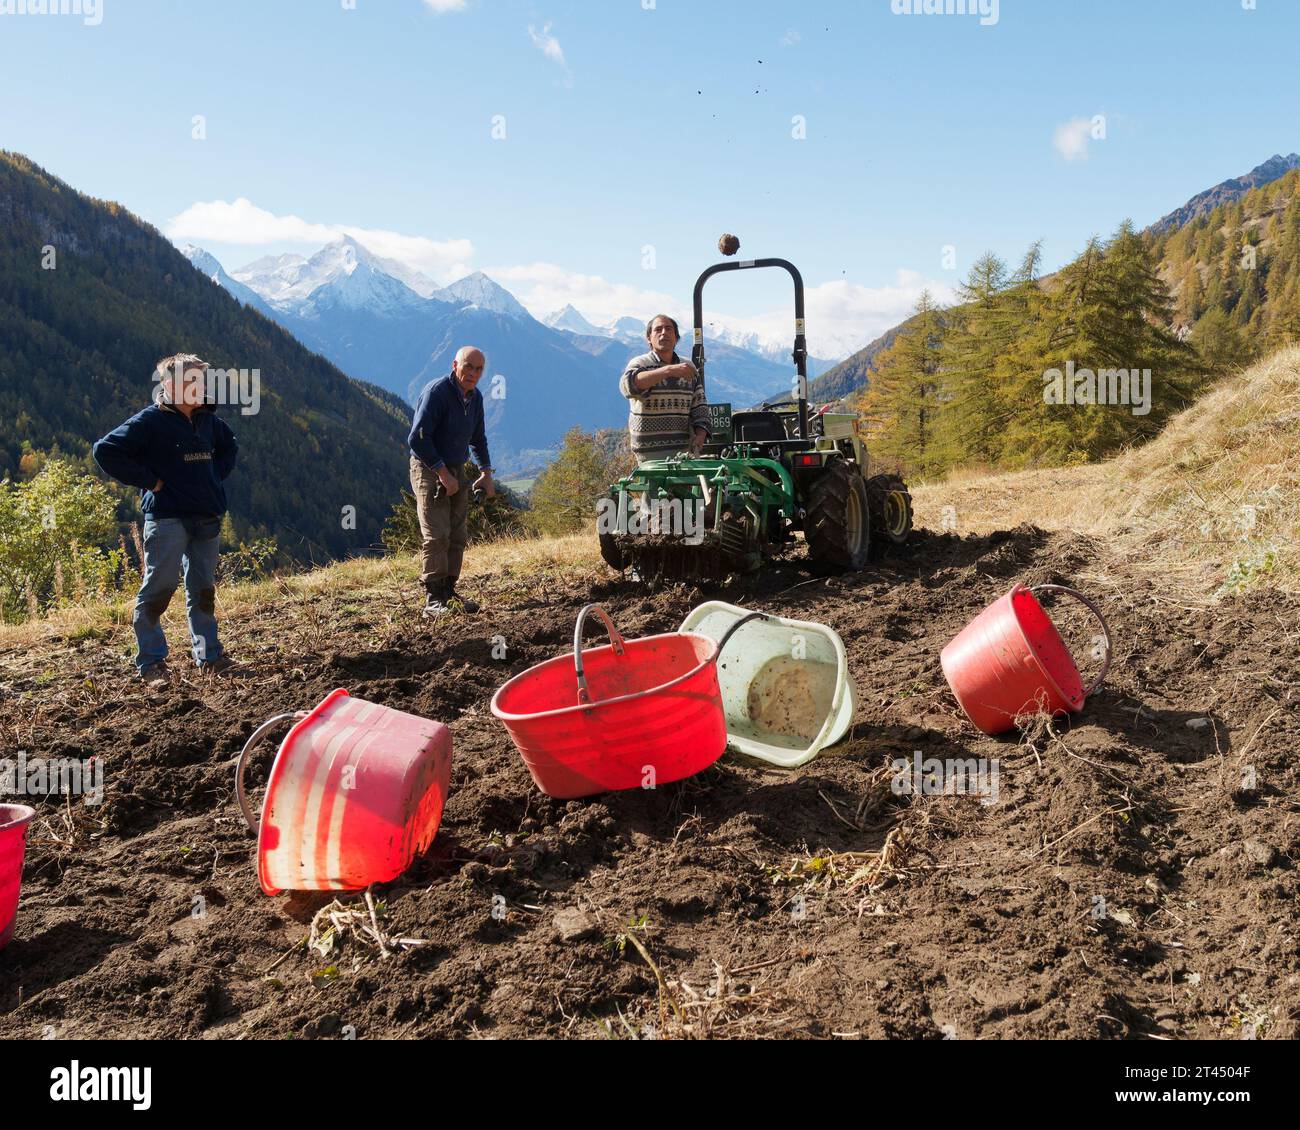
M261 821L244 795L248 752L286 718ZM235 792L257 835L257 876L281 891L360 891L395 879L438 831L451 779L451 731L346 690L309 714L281 714L239 754Z

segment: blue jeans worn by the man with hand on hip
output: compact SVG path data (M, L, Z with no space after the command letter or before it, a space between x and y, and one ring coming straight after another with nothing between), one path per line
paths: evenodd
M191 528L195 528L191 523ZM220 529L220 527L216 527ZM207 531L200 531L207 532ZM185 611L190 619L190 650L203 664L221 658L217 640L217 555L221 538L198 538L179 518L144 523L144 584L135 598L135 666L142 671L166 658L166 636L159 623L185 577Z

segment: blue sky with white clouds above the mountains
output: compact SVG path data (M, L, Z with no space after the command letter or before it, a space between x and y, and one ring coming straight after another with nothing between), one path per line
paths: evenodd
M984 250L1041 238L1052 269L1300 150L1295 0L1001 0L988 25L904 0L344 3L0 14L0 147L228 268L350 230L597 321L681 309L734 231L802 268L819 355ZM788 321L776 277L708 299Z

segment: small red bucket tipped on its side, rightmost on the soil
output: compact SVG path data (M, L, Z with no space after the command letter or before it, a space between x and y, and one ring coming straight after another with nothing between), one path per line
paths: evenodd
M1036 592L1075 597L1101 622L1106 654L1091 687L1084 688L1074 657ZM962 628L944 648L940 663L970 720L985 733L1005 733L1027 714L1083 710L1110 670L1110 629L1097 606L1074 589L1015 585Z

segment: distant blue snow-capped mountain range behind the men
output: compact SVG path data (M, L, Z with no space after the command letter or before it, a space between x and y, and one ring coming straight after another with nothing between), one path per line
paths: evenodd
M618 376L630 356L649 348L638 319L598 326L568 306L538 321L482 272L439 287L351 237L311 256L265 256L231 272L200 247L182 251L244 306L408 403L451 369L460 346L477 345L488 355L482 388L493 462L507 475L545 464L575 425L625 425ZM793 341L783 351L757 335L719 329L706 341L710 397L741 407L788 389L792 347ZM828 367L812 361L810 371ZM494 382L498 376L504 380Z

